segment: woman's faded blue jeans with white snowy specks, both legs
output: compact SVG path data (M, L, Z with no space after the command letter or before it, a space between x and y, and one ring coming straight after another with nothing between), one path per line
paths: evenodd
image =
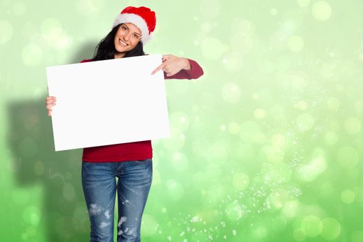
M113 241L116 189L117 241L140 241L141 217L149 195L152 173L151 159L82 162L82 187L91 221L91 242Z

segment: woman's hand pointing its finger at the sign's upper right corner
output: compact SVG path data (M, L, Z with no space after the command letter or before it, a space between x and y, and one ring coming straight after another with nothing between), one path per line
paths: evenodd
M189 60L183 57L177 57L175 55L163 55L162 64L156 68L151 75L155 74L157 71L162 70L167 73L167 76L175 75L181 70L190 70Z

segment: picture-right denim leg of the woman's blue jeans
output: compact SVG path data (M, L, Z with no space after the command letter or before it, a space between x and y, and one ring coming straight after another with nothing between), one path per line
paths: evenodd
M124 162L118 176L118 242L140 241L141 218L152 175L151 159Z

